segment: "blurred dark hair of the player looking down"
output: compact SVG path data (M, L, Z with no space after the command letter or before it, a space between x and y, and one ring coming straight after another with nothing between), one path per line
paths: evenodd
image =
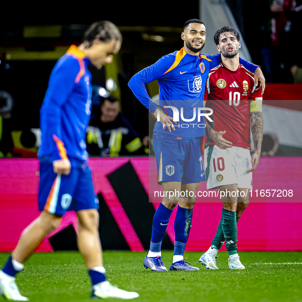
M83 36L83 42L89 42L99 39L102 42L109 42L112 39L122 42L122 34L112 22L110 21L99 21L92 23L86 30Z

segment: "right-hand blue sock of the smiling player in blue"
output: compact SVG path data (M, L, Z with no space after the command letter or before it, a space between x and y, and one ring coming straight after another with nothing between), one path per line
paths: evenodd
M185 245L187 244L191 223L192 223L193 209L180 207L178 204L174 231L175 231L175 243L174 243L174 255L183 256Z

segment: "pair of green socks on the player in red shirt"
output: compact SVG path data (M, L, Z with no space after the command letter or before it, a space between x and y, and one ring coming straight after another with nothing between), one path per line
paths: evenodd
M220 249L224 240L228 254L237 253L237 222L236 212L227 211L222 208L221 220L217 227L216 235L212 241L211 247Z

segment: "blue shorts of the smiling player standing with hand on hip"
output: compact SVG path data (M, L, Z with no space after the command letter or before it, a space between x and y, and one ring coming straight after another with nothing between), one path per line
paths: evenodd
M182 184L205 181L199 138L161 140L153 135L158 184L180 181Z

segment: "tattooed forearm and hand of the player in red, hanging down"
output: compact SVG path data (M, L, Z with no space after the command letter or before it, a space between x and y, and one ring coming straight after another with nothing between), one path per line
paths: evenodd
M251 132L253 136L254 141L254 153L251 157L251 162L253 162L253 167L246 171L246 172L252 172L255 171L256 168L259 165L259 160L261 156L261 146L262 146L262 140L263 140L263 118L262 118L262 112L251 112L250 113L250 122L251 122Z

